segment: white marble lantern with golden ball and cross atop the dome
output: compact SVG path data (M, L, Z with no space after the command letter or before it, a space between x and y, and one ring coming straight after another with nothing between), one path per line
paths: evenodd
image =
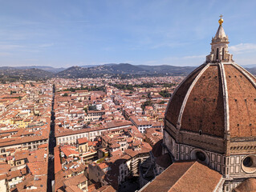
M212 39L212 49L210 54L206 56L206 62L233 62L233 55L228 51L228 44L230 42L222 26L222 23L224 22L222 17L223 15L221 15L218 20L220 25Z

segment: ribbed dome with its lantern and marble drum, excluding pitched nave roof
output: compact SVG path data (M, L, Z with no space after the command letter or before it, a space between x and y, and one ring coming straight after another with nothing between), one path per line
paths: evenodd
M174 162L197 159L232 191L256 178L256 78L234 62L222 23L205 63L170 98L163 142Z

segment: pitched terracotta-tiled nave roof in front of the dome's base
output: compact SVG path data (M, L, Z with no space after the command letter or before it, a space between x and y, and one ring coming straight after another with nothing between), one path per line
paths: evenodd
M174 162L140 191L214 191L221 178L221 174L200 162Z

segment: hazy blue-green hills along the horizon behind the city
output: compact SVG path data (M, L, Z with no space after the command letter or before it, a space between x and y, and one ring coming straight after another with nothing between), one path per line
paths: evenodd
M256 74L256 65L246 67L250 73ZM0 67L0 81L14 82L17 80L44 80L47 78L138 78L152 76L185 76L196 66L144 66L132 65L129 63L105 64L99 66L71 66L65 68L55 68L51 66L18 66Z

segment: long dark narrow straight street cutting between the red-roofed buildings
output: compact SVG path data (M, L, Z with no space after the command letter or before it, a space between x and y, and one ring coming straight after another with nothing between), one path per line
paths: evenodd
M52 181L55 180L55 159L54 159L54 148L55 142L55 85L52 88L52 102L51 102L51 132L49 135L49 158L48 158L48 178L47 178L47 191L52 191Z

